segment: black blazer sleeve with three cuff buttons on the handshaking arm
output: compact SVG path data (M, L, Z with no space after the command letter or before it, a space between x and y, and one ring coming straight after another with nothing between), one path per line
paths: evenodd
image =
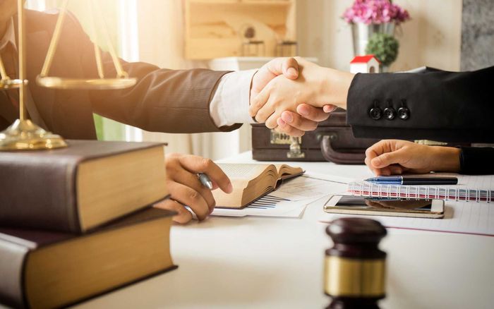
M348 93L347 122L358 138L493 142L493 80L494 67L359 73Z

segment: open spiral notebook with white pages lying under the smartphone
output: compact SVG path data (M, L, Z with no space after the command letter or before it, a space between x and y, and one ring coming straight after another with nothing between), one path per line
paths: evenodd
M448 233L474 234L494 236L494 176L467 176L457 174L438 173L434 176L458 177L457 186L373 186L370 183L353 183L348 190L355 195L392 196L400 195L403 198L442 198L445 201L445 217L443 219L405 218L405 217L373 217L384 226L394 229L412 229L423 231L441 231ZM390 188L388 188L390 187ZM405 187L405 186L402 186ZM412 188L417 187L417 188ZM421 189L422 188L422 189ZM491 202L488 202L488 201ZM321 215L321 222L331 222L348 214Z

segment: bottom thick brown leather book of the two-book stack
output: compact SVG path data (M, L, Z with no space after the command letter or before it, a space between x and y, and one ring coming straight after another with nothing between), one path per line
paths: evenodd
M147 208L82 236L0 228L0 303L60 308L176 268L174 214Z

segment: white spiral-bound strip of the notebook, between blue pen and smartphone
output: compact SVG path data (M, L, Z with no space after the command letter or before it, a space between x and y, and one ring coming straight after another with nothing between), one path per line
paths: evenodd
M490 190L493 189L493 190ZM349 183L349 193L378 198L433 198L439 200L494 202L494 188L456 186L380 185L367 181Z

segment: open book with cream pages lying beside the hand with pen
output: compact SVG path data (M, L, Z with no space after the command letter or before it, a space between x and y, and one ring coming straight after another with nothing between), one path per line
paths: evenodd
M303 174L300 167L286 164L218 164L230 178L234 191L230 194L214 190L218 208L241 209L281 186L285 179Z

